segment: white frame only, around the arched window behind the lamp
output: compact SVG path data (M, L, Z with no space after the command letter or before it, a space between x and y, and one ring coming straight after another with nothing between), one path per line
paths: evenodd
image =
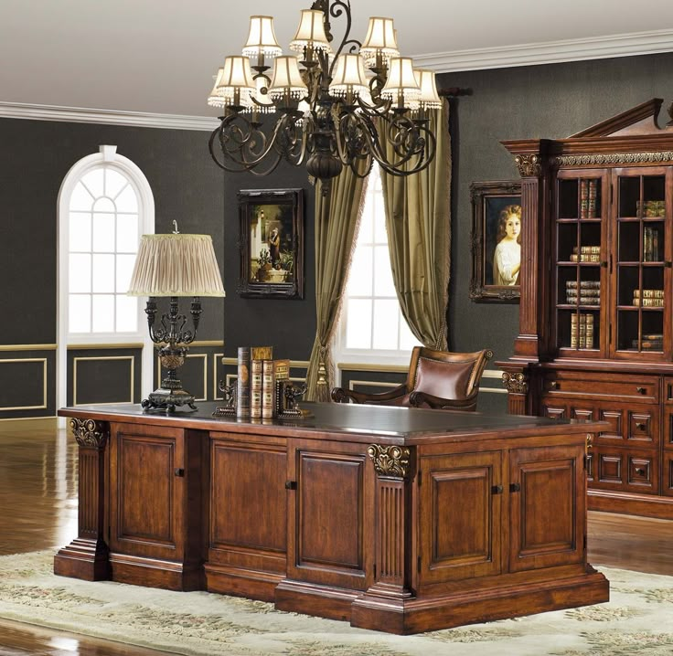
M70 168L63 178L57 201L57 220L59 224L57 238L57 406L67 403L67 356L68 344L128 344L142 342L142 386L152 387L154 370L153 344L147 332L143 303L138 303L138 330L134 333L72 333L68 331L69 306L69 209L70 197L75 186L84 175L100 168L116 169L130 181L138 199L138 240L140 235L155 232L155 198L147 178L140 168L130 159L117 153L115 145L101 145L98 153L80 159ZM140 301L140 300L139 300Z

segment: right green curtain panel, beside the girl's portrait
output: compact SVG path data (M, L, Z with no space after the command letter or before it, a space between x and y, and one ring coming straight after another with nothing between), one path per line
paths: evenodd
M390 264L401 311L424 346L447 348L451 249L451 139L449 106L434 110L437 137L433 162L417 175L397 177L381 170ZM387 150L392 159L390 146Z

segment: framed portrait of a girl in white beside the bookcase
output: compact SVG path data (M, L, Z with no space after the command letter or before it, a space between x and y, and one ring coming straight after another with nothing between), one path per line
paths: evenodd
M472 196L472 280L475 302L518 302L521 296L521 183L475 182Z

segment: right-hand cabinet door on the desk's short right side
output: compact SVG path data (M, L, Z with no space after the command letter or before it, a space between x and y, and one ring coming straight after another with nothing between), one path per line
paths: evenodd
M584 559L583 458L582 446L510 451L510 572Z

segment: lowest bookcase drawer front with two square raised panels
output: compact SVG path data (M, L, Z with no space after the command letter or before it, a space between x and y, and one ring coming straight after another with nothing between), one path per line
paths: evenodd
M593 449L589 466L592 487L615 492L658 494L656 454L650 450Z

